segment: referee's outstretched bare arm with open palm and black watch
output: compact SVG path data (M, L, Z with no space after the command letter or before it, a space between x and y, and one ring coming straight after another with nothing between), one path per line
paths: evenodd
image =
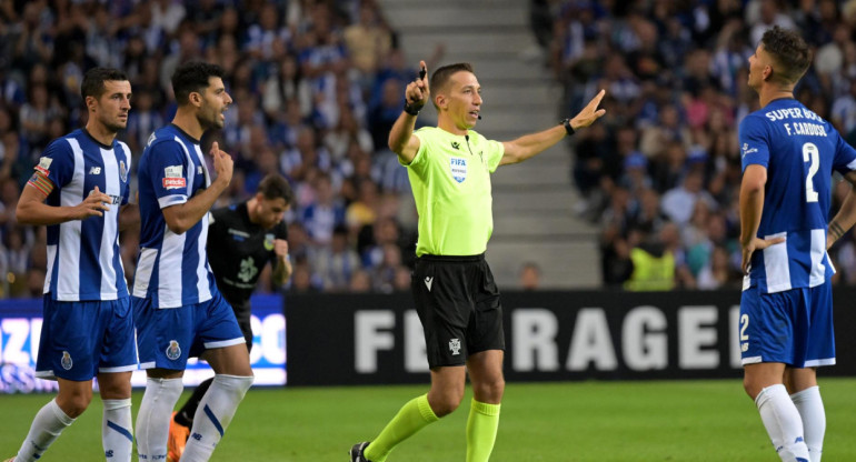
M570 119L570 128L578 130L595 123L597 119L601 118L606 113L606 109L598 109L598 106L600 106L600 100L604 99L605 94L606 90L600 90L577 116ZM522 162L556 144L567 133L565 125L560 124L538 133L522 135L514 141L506 141L502 143L505 153L499 164L506 165Z

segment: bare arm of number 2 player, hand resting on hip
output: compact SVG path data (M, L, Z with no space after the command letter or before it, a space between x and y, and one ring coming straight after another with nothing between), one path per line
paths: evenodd
M785 238L760 239L757 237L760 215L764 211L764 185L767 183L767 169L752 164L743 173L740 183L740 249L743 259L740 268L744 274L749 273L752 254L770 245L784 242Z

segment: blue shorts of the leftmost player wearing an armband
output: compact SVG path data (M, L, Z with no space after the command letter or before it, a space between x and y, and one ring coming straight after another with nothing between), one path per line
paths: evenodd
M137 370L128 297L62 302L44 294L36 376L91 380L98 373Z

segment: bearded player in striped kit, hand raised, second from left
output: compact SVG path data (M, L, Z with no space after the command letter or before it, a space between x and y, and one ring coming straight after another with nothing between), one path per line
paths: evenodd
M199 356L215 379L199 403L181 460L207 461L252 384L243 333L208 264L208 212L229 187L232 159L211 148L212 179L199 140L221 129L232 99L220 67L187 62L172 74L178 111L152 133L140 158L140 253L132 301L140 368L148 380L137 415L141 461L166 460L172 408L187 360Z

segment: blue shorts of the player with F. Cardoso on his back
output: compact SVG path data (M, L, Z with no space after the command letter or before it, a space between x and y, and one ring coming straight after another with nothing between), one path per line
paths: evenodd
M794 368L835 364L832 285L743 292L739 320L743 364L780 362Z

